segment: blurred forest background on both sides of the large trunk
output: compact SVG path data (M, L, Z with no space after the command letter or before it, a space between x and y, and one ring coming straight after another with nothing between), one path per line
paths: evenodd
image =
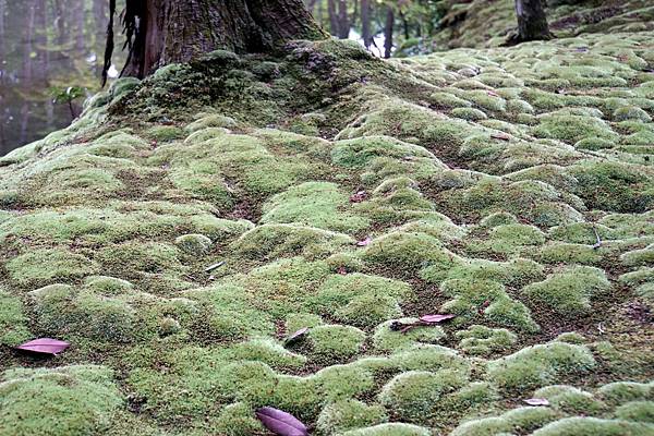
M332 35L386 57L415 49L447 9L431 0L305 3ZM99 88L108 11L108 0L0 0L0 156L70 124ZM117 50L110 76L123 59Z

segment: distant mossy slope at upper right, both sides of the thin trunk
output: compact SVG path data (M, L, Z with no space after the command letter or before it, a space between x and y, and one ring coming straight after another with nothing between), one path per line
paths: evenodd
M498 47L516 31L514 0L450 0L437 33L411 39L398 55L416 55L457 47ZM557 37L588 33L654 31L650 0L549 0L547 20Z

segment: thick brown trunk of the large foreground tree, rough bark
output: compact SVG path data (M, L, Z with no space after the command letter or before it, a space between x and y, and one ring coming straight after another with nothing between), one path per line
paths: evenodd
M125 26L123 75L136 77L217 49L265 52L325 37L302 0L128 0Z

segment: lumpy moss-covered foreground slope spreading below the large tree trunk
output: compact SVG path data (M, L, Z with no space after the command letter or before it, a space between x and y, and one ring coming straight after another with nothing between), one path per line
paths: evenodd
M0 159L0 434L652 435L654 34L289 50Z

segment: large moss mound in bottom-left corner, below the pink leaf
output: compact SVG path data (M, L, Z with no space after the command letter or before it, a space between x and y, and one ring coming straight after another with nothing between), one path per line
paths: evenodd
M122 407L102 366L13 370L0 384L0 433L8 436L104 434Z

